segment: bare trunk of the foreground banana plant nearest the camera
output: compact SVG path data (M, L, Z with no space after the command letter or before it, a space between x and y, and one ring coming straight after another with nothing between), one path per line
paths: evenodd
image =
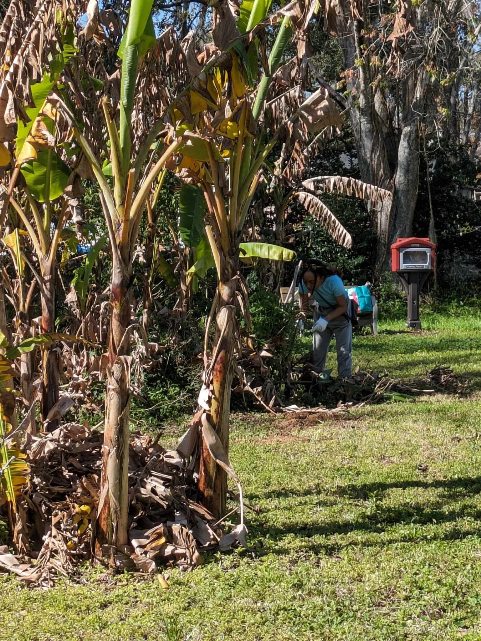
M128 444L130 410L130 264L114 260L108 337L101 490L96 521L96 555L108 556L109 546L127 544ZM108 546L108 547L103 547Z

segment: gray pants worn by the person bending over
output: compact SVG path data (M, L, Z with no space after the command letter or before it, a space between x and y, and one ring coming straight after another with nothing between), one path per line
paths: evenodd
M348 304L350 303L351 301L348 301ZM317 304L314 308L314 322L329 312L332 312L332 308L326 309ZM346 319L344 315L331 320L324 331L314 332L314 368L318 374L326 369L326 357L332 337L335 337L339 378L349 378L352 370L352 326L350 319Z

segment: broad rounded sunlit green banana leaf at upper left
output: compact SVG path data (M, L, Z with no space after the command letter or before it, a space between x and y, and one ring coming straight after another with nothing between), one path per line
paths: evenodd
M50 163L50 185L47 186L47 171ZM22 174L32 196L39 203L62 196L71 171L55 151L39 151L37 160L22 165ZM49 187L49 188L48 188Z

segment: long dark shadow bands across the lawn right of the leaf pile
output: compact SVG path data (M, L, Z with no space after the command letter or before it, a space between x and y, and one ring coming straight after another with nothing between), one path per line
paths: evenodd
M384 494L391 489L408 488L423 488L426 490L433 488L441 488L445 492L437 495L436 500L423 502L403 502L398 505L384 506L381 501ZM325 489L319 488L319 494L323 494ZM385 531L392 526L405 525L405 526L426 526L426 525L441 525L450 522L456 523L459 519L473 519L481 520L481 508L475 507L471 504L455 505L450 508L449 501L457 503L468 497L469 495L479 494L481 492L481 476L447 479L444 481L423 481L423 480L406 480L406 481L392 481L387 483L365 483L362 485L346 485L342 488L337 488L333 495L339 498L351 499L352 505L346 504L346 510L352 509L360 510L359 519L353 520L333 520L323 524L310 524L300 522L285 522L282 527L264 526L263 524L251 524L249 527L250 536L253 538L275 540L281 539L280 542L274 545L267 544L264 551L260 546L257 553L260 556L269 553L276 554L289 554L292 552L292 547L283 545L282 538L286 535L295 535L301 542L303 547L308 548L308 551L316 554L333 554L339 552L344 547L356 546L360 547L376 547L382 545L389 545L402 542L416 542L423 540L460 540L470 535L479 535L480 528L462 529L459 526L453 526L449 531L441 531L439 533L433 532L432 529L426 535L413 531L412 535L407 535L405 532L399 535L393 534L391 536L382 537L379 540L367 539L361 540L336 540L330 542L328 537L337 537L338 535L351 535L360 537L369 535L382 535ZM316 494L314 490L294 490L284 489L266 492L262 496L249 495L246 497L249 501L253 499L282 499L291 497L313 497ZM316 511L323 506L328 507L328 503L323 501L321 497L319 502L312 505ZM360 501L366 501L363 506ZM332 504L332 503L331 503ZM350 510L351 508L351 510ZM446 510L448 508L448 510ZM370 510L370 513L367 513ZM262 519L262 515L260 515ZM326 537L326 540L319 541L317 537Z

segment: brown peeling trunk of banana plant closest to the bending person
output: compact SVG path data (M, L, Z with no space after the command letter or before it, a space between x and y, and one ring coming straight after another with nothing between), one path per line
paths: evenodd
M214 427L225 452L229 451L230 392L233 379L233 335L235 329L235 290L237 279L228 278L237 273L235 265L226 270L219 282L219 308L212 354L214 367L210 375L213 397L210 408ZM226 512L227 474L210 456L205 443L201 446L199 465L199 499L217 519Z

